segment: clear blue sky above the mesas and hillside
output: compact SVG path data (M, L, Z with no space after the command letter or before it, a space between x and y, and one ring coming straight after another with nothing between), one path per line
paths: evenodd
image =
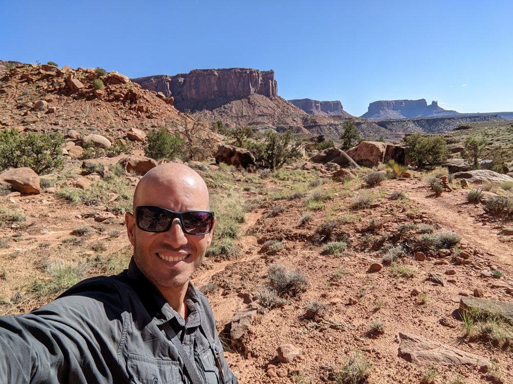
M358 3L358 4L357 4ZM0 59L130 77L274 70L286 99L513 111L513 1L0 0Z

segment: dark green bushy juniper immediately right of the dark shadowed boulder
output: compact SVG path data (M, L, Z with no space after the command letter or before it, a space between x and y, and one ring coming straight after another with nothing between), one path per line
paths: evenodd
M278 169L300 157L300 145L294 142L293 133L287 130L279 134L268 130L263 142L250 142L248 149L253 153L255 160L265 168Z

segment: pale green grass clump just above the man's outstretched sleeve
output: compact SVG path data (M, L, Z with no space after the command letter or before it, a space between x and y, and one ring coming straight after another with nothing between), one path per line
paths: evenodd
M68 265L61 262L50 263L46 272L51 279L34 281L27 291L39 297L61 292L78 283L88 269L89 266L84 263Z

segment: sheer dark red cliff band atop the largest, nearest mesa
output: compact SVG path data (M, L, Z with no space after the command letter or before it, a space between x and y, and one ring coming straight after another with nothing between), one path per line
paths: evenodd
M249 68L193 70L188 74L159 75L132 79L141 87L174 97L177 109L213 110L251 95L278 95L274 72Z

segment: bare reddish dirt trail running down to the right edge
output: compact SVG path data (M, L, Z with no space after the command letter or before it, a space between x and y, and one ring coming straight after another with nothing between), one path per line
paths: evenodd
M513 265L513 244L501 241L501 237L497 236L499 230L493 228L495 225L483 225L485 222L468 214L471 206L466 203L465 189L456 189L435 198L421 181L399 181L396 185L407 190L408 198L419 203L422 210L433 216L442 226L451 228L468 243L481 248L495 260Z

